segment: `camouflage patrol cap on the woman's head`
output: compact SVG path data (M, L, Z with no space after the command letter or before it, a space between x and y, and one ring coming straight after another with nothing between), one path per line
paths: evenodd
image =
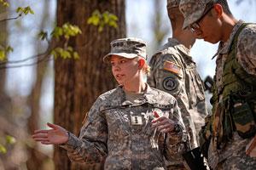
M113 42L110 42L110 45L110 53L103 57L105 63L109 61L111 55L118 55L127 59L141 56L144 59L147 59L146 42L141 39L135 37L121 38L113 40Z

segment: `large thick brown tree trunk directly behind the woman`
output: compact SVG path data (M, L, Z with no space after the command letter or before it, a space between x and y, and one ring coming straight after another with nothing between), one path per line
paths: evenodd
M119 18L118 28L105 26L102 32L87 25L87 19L98 9ZM84 116L97 96L115 87L108 65L102 57L110 51L109 42L125 37L125 0L58 0L57 25L69 22L82 30L71 46L80 59L55 59L55 123L79 135ZM66 150L55 147L55 169L99 169L101 165L78 165L67 158Z

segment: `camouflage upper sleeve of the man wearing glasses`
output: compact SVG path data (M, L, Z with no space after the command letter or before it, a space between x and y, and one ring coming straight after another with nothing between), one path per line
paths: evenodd
M256 25L244 28L237 42L236 58L247 73L256 76Z

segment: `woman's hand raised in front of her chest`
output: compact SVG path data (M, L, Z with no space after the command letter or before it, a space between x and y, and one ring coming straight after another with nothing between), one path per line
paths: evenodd
M152 127L156 127L161 133L172 133L174 130L176 122L171 119L160 116L152 121Z

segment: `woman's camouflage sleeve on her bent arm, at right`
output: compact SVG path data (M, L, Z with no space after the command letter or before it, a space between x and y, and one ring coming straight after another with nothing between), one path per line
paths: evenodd
M174 132L166 135L166 160L181 162L182 154L190 149L190 144L176 100L171 112L169 118L177 124Z

